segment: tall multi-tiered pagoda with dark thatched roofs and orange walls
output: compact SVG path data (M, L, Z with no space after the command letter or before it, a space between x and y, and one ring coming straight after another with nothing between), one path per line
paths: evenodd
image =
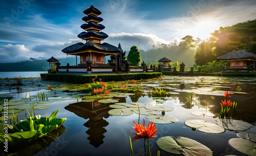
M120 49L109 43L100 43L100 41L109 36L100 32L105 27L99 24L103 19L98 17L101 14L98 9L91 6L84 10L83 13L87 15L82 18L86 24L81 25L84 32L81 32L77 37L86 40L86 43L78 42L64 48L62 52L67 55L80 56L80 63L78 65L87 65L89 59L92 65L106 65L105 56L116 55L120 52Z

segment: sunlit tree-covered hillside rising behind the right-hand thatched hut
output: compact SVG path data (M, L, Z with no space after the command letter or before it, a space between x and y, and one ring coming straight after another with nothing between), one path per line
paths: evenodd
M256 19L238 23L231 27L220 27L211 37L202 41L195 55L196 64L203 65L233 50L256 50Z

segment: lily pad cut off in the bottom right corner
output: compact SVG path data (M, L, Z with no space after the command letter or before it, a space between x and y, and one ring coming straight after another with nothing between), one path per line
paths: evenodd
M236 150L247 154L256 155L256 143L251 142L242 138L233 138L228 141L228 143Z

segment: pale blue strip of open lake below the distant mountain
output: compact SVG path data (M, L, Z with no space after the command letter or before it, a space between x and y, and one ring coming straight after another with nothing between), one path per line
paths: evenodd
M45 71L42 71L42 72L0 72L0 78L40 77L40 73L47 73L47 72L45 72Z

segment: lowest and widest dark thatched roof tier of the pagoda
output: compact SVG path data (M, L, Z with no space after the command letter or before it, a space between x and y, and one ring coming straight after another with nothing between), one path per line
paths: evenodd
M76 43L76 44L72 44L69 47L66 47L64 49L62 49L63 53L66 54L74 54L74 53L79 53L79 52L84 52L87 50L94 50L94 51L99 51L99 52L106 52L106 53L118 53L121 50L115 46L112 46L109 43L95 43L94 41L90 40L86 43Z

